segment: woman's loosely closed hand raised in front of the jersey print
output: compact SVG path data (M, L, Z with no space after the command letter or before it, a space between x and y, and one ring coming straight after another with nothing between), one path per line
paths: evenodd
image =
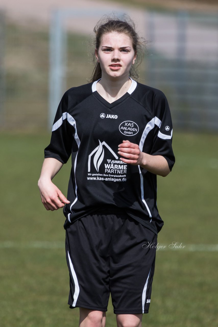
M143 153L140 151L138 144L123 141L123 143L118 146L118 154L124 157L120 158L124 163L132 165L142 164Z

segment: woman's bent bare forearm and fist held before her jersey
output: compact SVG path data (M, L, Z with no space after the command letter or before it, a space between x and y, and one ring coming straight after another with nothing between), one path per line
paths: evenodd
M165 177L170 173L169 165L163 156L144 153L135 143L123 141L118 146L118 154L124 157L120 158L124 163L140 165L153 174Z

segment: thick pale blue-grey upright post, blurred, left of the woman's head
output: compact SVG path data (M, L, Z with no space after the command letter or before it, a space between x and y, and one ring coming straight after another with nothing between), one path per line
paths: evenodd
M51 129L63 93L63 27L61 11L53 12L50 25L49 114Z

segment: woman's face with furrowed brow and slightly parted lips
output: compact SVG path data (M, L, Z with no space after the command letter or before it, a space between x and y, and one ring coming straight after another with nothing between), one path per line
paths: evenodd
M102 36L98 51L95 49L95 56L101 66L102 78L128 77L136 59L130 37L117 32Z

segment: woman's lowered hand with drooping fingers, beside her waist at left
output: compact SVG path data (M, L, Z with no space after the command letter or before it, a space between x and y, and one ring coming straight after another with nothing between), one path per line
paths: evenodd
M39 180L38 186L42 203L46 210L58 210L63 208L65 203L70 203L51 180Z

